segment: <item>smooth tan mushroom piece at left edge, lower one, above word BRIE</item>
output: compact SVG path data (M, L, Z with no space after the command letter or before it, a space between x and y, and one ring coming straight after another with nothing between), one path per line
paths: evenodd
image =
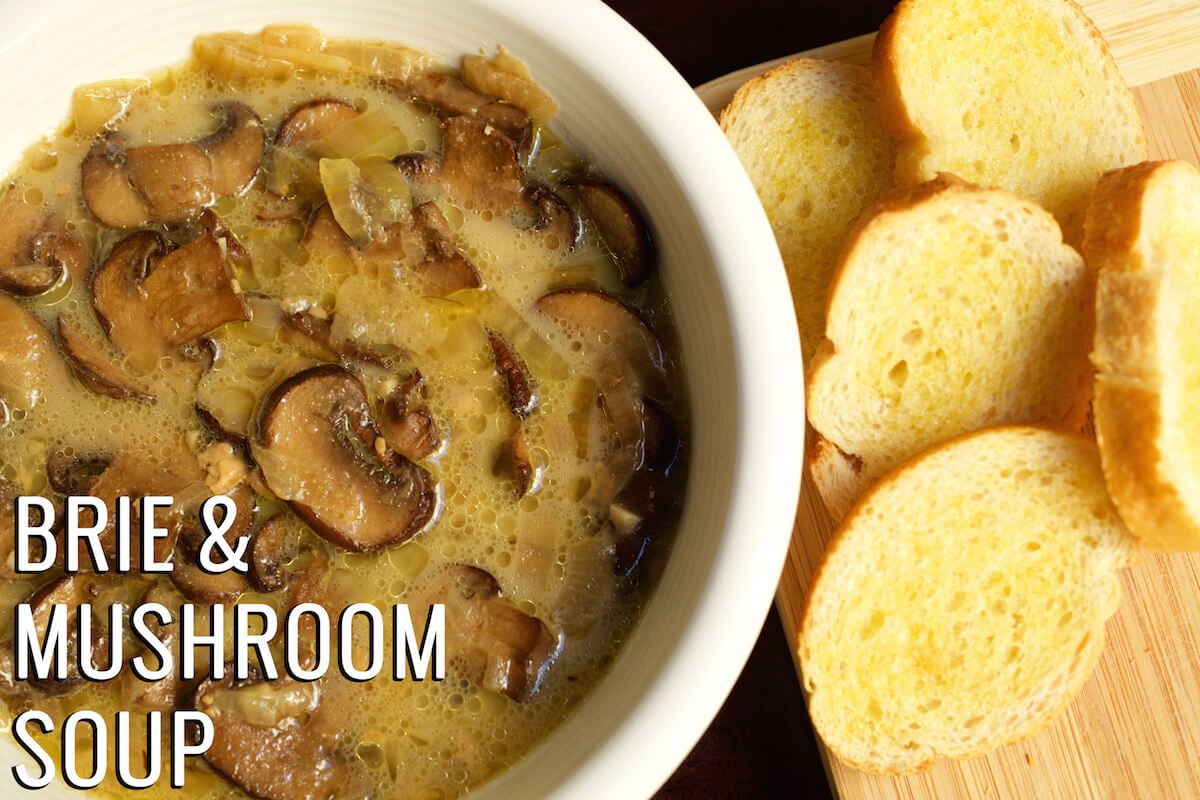
M16 300L0 295L0 401L7 413L31 411L70 386L71 371L50 332Z

